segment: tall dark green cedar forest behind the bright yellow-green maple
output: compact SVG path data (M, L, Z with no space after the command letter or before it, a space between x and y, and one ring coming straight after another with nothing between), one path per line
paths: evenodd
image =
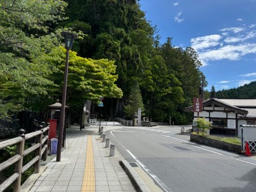
M79 55L115 60L124 100L138 82L147 117L168 121L172 116L175 123L192 120L183 110L198 96L201 84L201 63L195 50L174 47L172 38L160 45L156 27L147 22L137 1L66 2L69 20L60 25L78 26L79 21L83 25L77 29L87 29L88 35L78 41Z

